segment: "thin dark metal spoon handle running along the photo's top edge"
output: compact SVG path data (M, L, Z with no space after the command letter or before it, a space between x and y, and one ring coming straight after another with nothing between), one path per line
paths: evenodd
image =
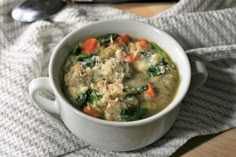
M110 4L118 4L118 3L156 3L156 2L178 2L179 0L63 0L66 2L72 3L110 3Z

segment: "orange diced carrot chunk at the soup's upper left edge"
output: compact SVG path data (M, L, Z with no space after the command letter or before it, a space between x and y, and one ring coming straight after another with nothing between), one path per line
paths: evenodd
M91 38L88 40L85 40L82 44L82 54L92 54L94 49L96 48L98 44L98 40L95 38Z

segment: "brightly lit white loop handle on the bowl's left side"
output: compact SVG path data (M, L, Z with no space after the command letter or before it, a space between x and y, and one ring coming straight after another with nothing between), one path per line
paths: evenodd
M56 100L51 100L39 94L43 90L54 94L48 77L39 77L30 82L29 94L34 104L47 112L59 114L59 107Z

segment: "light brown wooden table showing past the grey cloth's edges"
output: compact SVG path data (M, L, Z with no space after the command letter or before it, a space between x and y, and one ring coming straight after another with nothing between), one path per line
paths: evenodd
M164 11L174 3L159 4L122 4L113 7L136 15L150 17ZM236 129L217 135L195 137L172 155L183 157L235 157L236 156Z

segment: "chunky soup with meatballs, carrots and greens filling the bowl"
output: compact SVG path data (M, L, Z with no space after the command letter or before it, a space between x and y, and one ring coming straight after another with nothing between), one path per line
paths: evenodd
M109 121L160 112L179 85L176 65L155 42L115 33L75 45L63 76L64 92L77 109Z

